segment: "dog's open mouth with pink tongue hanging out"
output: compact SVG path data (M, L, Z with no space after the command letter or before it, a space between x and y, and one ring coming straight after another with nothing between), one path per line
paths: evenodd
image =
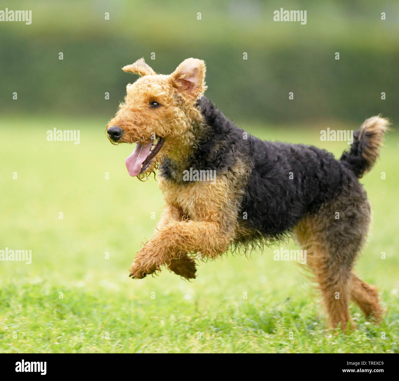
M137 143L136 148L125 160L126 168L130 176L137 176L144 172L151 164L152 158L159 152L164 144L164 138L156 136L152 142L146 144Z

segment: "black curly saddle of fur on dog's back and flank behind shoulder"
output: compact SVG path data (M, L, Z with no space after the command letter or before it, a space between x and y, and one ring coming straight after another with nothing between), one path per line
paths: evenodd
M247 212L243 222L269 240L279 239L305 213L333 199L344 172L349 172L331 153L313 146L253 136L249 145L252 171L242 203L242 213Z

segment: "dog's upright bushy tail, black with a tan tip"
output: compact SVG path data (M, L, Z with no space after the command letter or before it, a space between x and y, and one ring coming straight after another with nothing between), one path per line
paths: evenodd
M379 156L383 134L389 128L389 121L380 116L372 116L364 121L354 132L354 140L350 149L341 156L350 170L358 178L369 172Z

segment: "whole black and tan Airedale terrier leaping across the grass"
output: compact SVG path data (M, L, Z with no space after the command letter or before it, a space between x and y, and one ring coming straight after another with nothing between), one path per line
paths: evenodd
M126 159L130 176L142 180L160 169L165 202L130 276L144 278L166 266L195 278L198 253L213 259L229 248L252 249L294 235L307 251L331 327L352 326L350 300L367 317L381 319L377 289L352 269L370 223L358 178L379 156L387 120L365 120L350 150L336 160L314 146L262 141L235 126L203 96L204 61L186 59L170 75L156 74L144 59L123 70L141 77L127 85L108 137L137 143ZM187 179L188 171L214 173L215 179Z

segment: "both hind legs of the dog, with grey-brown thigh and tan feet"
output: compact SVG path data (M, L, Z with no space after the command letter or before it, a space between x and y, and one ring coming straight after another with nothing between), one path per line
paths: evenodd
M345 329L350 322L351 298L365 313L379 308L375 306L375 291L352 274L369 222L365 191L352 182L334 200L307 214L294 229L298 243L306 249L307 263L319 283L332 328L340 324Z

